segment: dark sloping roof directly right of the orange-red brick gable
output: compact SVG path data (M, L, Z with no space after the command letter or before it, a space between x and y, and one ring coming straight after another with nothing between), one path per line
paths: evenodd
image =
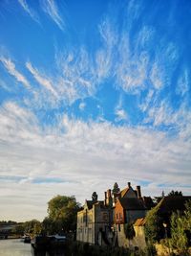
M121 206L125 210L145 210L142 200L138 198L119 198Z

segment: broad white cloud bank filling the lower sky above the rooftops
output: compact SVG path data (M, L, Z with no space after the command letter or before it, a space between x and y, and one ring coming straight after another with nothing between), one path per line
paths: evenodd
M18 220L32 215L43 218L46 202L57 194L75 195L83 203L96 190L102 198L115 181L123 187L129 180L135 185L146 180L155 184L155 193L159 194L161 183L168 187L181 184L188 194L191 129L181 136L181 127L180 136L169 137L150 128L114 127L94 121L87 124L64 115L56 127L42 130L32 112L12 103L1 107L0 120L0 178L22 177L19 185L13 179L3 182L0 203L7 197L7 203L15 206ZM45 176L65 181L56 186L34 182ZM151 188L144 186L144 190L154 195ZM26 206L27 200L33 208ZM7 219L12 217L11 209Z

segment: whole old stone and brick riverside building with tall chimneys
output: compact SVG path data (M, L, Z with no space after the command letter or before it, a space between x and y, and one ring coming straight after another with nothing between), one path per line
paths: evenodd
M151 198L141 197L140 186L134 190L131 183L120 191L117 183L113 190L105 192L105 199L98 201L95 193L92 200L86 200L77 213L76 240L89 244L110 244L129 247L130 241L125 236L125 225L134 224L145 217L153 206ZM140 228L135 227L135 246L138 246ZM139 233L138 233L139 232ZM140 242L144 246L144 242Z

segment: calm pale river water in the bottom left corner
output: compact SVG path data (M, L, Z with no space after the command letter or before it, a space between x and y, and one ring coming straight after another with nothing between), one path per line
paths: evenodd
M18 239L0 240L0 256L64 256L64 252L33 252L31 244L24 244Z

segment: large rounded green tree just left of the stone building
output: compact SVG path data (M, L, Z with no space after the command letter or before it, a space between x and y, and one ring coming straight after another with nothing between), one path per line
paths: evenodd
M74 197L56 196L48 202L48 218L56 232L69 232L76 229L76 214L79 203Z

